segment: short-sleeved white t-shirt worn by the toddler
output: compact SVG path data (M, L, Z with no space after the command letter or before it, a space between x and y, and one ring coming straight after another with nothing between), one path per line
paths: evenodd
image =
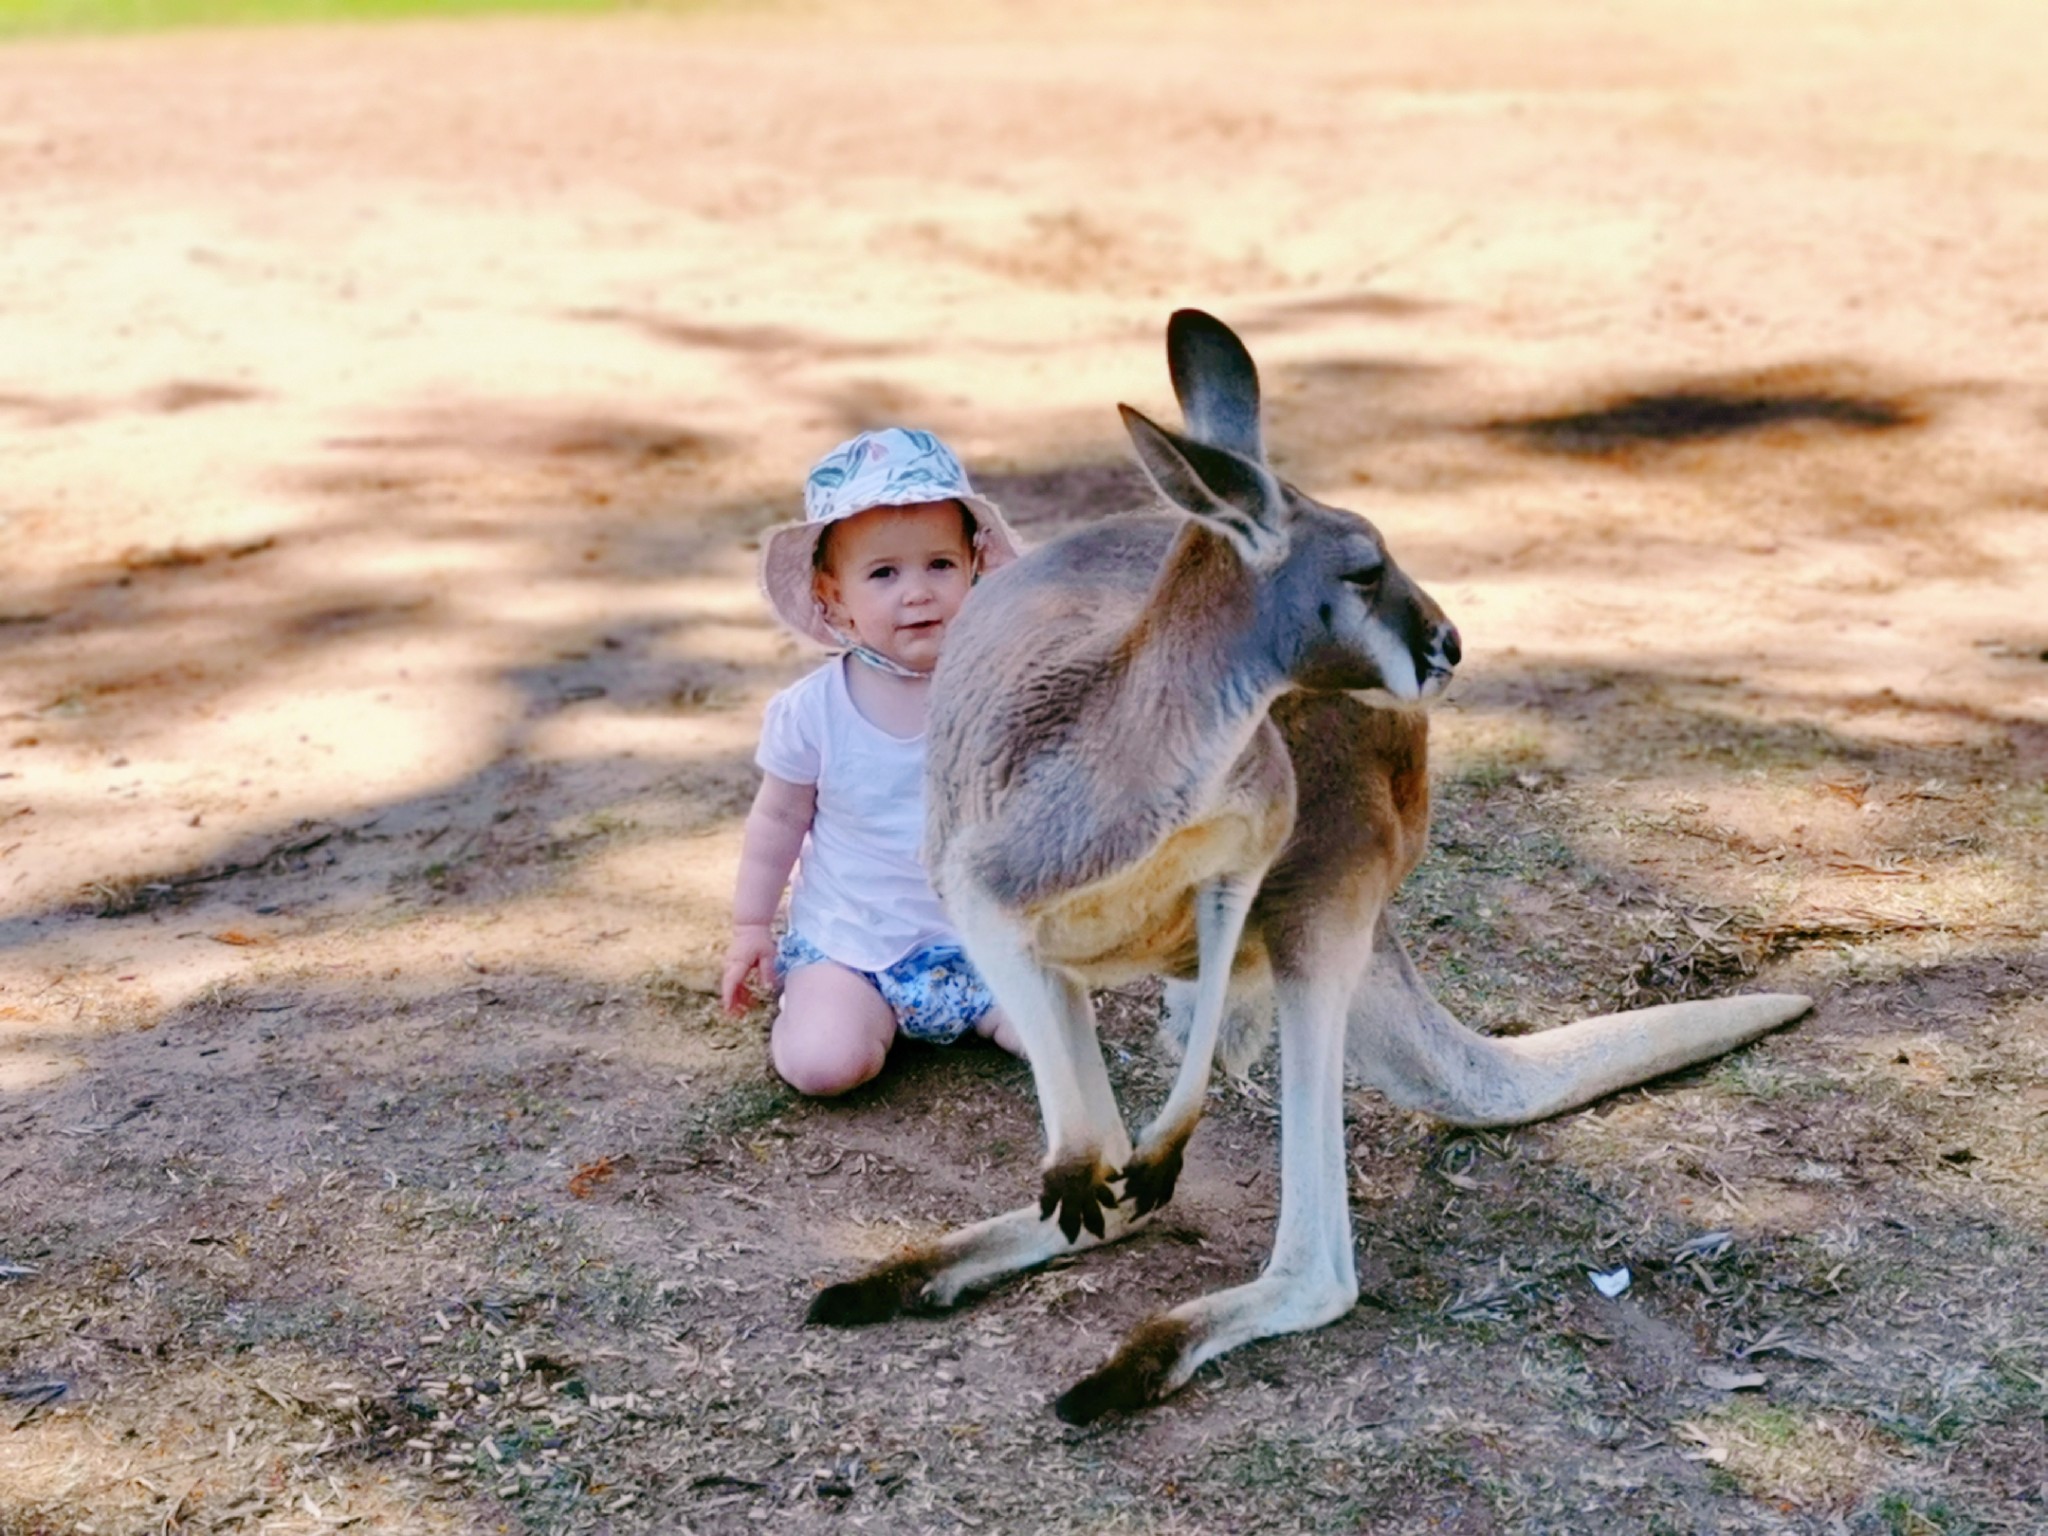
M817 784L788 926L854 971L887 971L926 944L958 944L924 872L924 733L889 735L854 707L840 655L774 698L754 762Z

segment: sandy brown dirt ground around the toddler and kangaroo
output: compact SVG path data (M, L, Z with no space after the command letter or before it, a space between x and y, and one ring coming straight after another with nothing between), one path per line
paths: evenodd
M2048 1532L2038 6L930 10L0 49L0 1532ZM1184 303L1462 629L1446 1001L1819 1008L1354 1096L1360 1307L1071 1432L1262 1264L1270 1065L1151 1235L815 1331L1028 1073L797 1102L707 987L758 532L885 422L1141 504Z

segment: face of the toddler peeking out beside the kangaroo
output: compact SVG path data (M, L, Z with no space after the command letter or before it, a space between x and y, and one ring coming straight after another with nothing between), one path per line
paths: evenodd
M918 502L834 524L817 596L834 627L899 666L930 672L973 582L961 504Z

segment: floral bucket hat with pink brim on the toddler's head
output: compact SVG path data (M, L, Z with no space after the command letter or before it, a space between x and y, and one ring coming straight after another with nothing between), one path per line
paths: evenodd
M862 432L827 453L803 483L803 522L784 522L762 541L762 594L776 616L805 639L846 649L848 639L827 621L811 578L825 528L879 506L961 502L975 514L975 555L981 573L1018 557L1018 539L995 502L977 496L952 449L930 432L889 426Z

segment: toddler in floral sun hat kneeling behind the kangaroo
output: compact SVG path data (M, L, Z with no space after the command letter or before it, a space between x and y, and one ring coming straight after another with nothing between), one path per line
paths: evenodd
M842 442L805 481L803 510L768 535L762 592L840 655L768 700L719 989L739 1012L750 979L772 989L780 975L774 1069L831 1096L874 1077L899 1030L938 1042L973 1030L1018 1053L918 856L932 668L975 578L1018 547L930 432Z

